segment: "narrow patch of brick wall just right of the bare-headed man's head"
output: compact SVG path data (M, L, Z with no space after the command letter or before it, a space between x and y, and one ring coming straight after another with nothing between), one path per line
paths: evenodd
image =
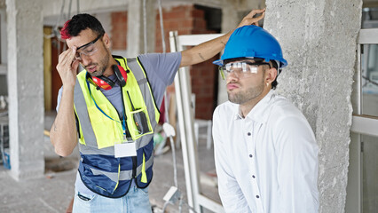
M127 12L112 12L112 49L127 49Z

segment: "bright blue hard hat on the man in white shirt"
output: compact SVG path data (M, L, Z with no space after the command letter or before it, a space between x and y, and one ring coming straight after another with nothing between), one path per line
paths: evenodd
M282 56L280 43L264 28L248 25L235 29L225 44L221 59L213 62L223 66L224 59L260 58L265 61L276 60L280 67L287 66Z

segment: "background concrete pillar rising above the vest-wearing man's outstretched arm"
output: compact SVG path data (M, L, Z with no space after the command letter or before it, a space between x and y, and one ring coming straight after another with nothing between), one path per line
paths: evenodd
M154 5L154 0L146 0L147 52L154 52L156 17ZM128 6L127 57L136 57L138 54L145 53L143 7L142 0L130 0Z

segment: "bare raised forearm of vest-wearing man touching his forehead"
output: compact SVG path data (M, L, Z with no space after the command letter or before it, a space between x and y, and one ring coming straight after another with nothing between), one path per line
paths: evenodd
M50 131L50 139L55 153L67 156L77 144L74 114L74 88L63 87L59 111Z

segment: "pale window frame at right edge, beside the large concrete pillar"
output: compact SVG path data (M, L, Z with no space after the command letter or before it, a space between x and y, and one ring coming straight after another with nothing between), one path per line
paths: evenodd
M358 35L357 74L354 76L356 83L353 84L351 99L353 114L350 126L350 165L348 170L346 213L363 212L363 145L361 137L362 135L378 137L378 117L362 114L361 46L364 44L378 44L378 28L360 29Z

